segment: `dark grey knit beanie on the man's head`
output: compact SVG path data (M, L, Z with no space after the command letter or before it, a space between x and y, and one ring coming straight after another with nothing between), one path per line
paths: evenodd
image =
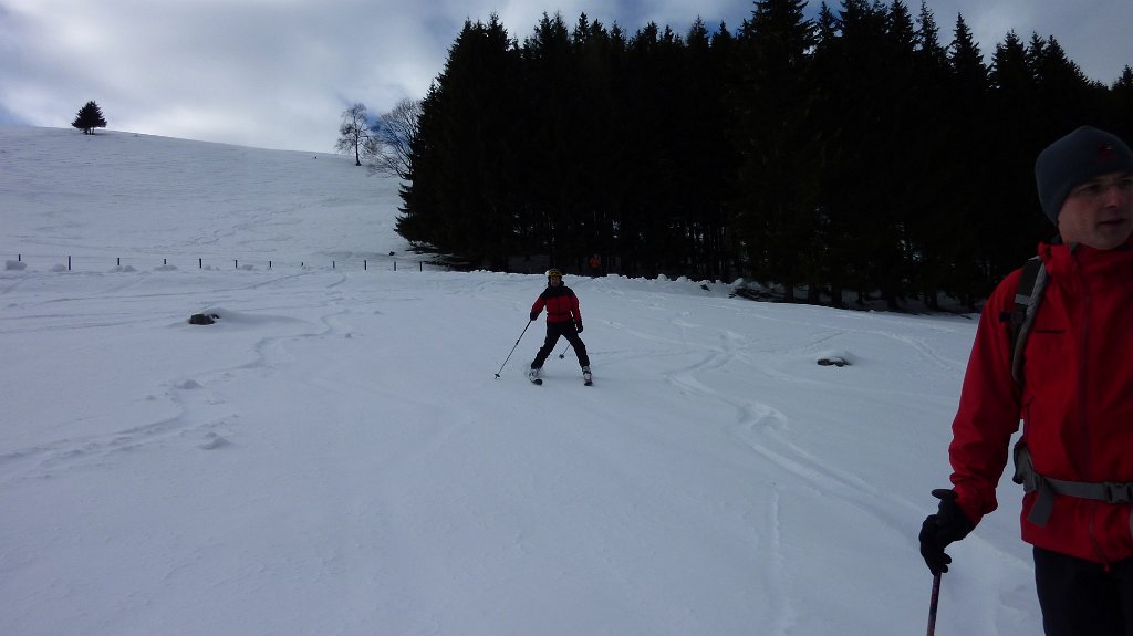
M1034 182L1039 203L1051 223L1070 191L1094 177L1109 172L1133 172L1133 152L1118 137L1083 126L1039 153Z

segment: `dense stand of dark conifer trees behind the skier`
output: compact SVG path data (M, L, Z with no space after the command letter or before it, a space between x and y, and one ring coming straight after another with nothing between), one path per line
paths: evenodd
M1038 152L1082 124L1133 140L1133 70L1088 78L1053 34L985 53L927 3L752 7L684 32L466 22L421 102L398 232L494 270L598 255L787 301L974 307L1056 232Z

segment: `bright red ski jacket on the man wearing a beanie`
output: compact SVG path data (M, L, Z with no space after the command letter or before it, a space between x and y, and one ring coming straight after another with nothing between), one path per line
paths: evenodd
M1023 386L1011 376L1010 325L1020 270L988 299L976 332L948 448L957 502L973 523L996 509L1012 435L1034 471L1079 482L1133 482L1133 240L1114 250L1040 244L1049 275L1026 340ZM1022 487L1020 487L1022 491ZM1133 557L1128 504L1055 496L1033 545L1108 564Z

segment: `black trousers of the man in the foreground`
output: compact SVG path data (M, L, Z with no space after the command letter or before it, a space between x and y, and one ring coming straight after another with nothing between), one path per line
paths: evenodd
M1133 559L1105 566L1034 549L1047 636L1133 636Z

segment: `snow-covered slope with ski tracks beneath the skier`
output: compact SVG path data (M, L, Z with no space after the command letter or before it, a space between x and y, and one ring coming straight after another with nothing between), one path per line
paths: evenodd
M925 629L971 317L568 276L595 386L560 343L535 387L543 277L421 270L397 206L347 157L0 127L0 631ZM937 634L1041 631L1004 481Z

